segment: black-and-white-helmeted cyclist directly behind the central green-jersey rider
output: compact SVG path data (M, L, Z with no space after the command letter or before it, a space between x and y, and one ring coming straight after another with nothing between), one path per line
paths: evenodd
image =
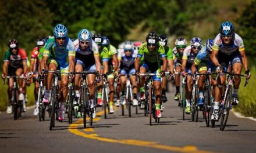
M169 46L167 46L168 44L168 39L166 37L166 35L159 35L159 44L163 46L163 48L165 48L165 54L167 56L167 61L168 61L168 68L170 71L170 75L173 74L173 53L172 53L172 49L169 48ZM161 61L161 65L162 65L162 61ZM172 78L170 78L172 79ZM162 80L162 101L163 103L165 103L167 101L167 97L166 97L166 83L167 83L167 78L163 77Z

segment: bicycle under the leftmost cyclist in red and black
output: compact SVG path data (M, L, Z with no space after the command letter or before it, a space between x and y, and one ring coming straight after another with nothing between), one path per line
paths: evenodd
M17 79L24 79L23 76L17 77L17 76L7 76L7 79L13 78L13 91L12 91L12 98L10 99L10 103L12 105L13 110L13 119L17 120L22 116L22 108L23 104L22 101L19 100L19 88ZM5 80L3 80L3 84L5 84Z

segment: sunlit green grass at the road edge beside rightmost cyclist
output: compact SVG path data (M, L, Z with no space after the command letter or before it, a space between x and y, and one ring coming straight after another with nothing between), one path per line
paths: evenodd
M241 84L239 87L239 104L233 107L235 111L240 112L244 116L253 116L256 118L256 67L250 68L251 78L246 87L244 82L246 79L241 77Z

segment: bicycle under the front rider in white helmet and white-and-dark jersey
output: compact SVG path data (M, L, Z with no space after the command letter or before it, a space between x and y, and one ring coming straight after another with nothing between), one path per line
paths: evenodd
M96 104L94 104L94 108L90 108L90 101L89 101L89 92L88 92L88 86L86 83L86 78L88 74L95 74L98 77L97 72L90 72L90 71L84 71L84 72L74 72L74 74L81 74L81 98L79 101L79 110L83 112L83 123L84 128L86 128L86 116L88 115L90 117L90 126L93 125L93 113Z

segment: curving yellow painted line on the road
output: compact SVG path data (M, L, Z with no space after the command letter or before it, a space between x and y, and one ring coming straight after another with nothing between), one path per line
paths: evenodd
M98 112L96 115L100 116L104 114L104 111L100 111ZM80 119L79 121L76 121L75 123L72 123L69 126L69 132L74 133L78 136L82 136L82 137L86 137L88 139L94 139L94 140L98 140L98 141L105 141L108 143L119 143L119 144L128 144L128 145L137 145L137 146L141 146L141 147L151 147L151 148L157 148L160 150L168 150L168 151L176 151L176 152L200 152L200 153L208 153L211 151L203 151L203 150L197 150L197 147L193 146L193 145L187 145L185 147L175 147L175 146L170 146L170 145L162 145L162 144L158 144L155 142L151 142L151 141L141 141L141 140L131 140L131 139L127 139L127 140L117 140L117 139L109 139L106 137L99 137L98 134L86 134L84 132L81 132L80 130L78 130L78 126L79 125L83 125L81 124L83 122L83 119ZM84 129L84 131L86 132L94 132L91 131L92 128L88 128L88 131L86 129Z

